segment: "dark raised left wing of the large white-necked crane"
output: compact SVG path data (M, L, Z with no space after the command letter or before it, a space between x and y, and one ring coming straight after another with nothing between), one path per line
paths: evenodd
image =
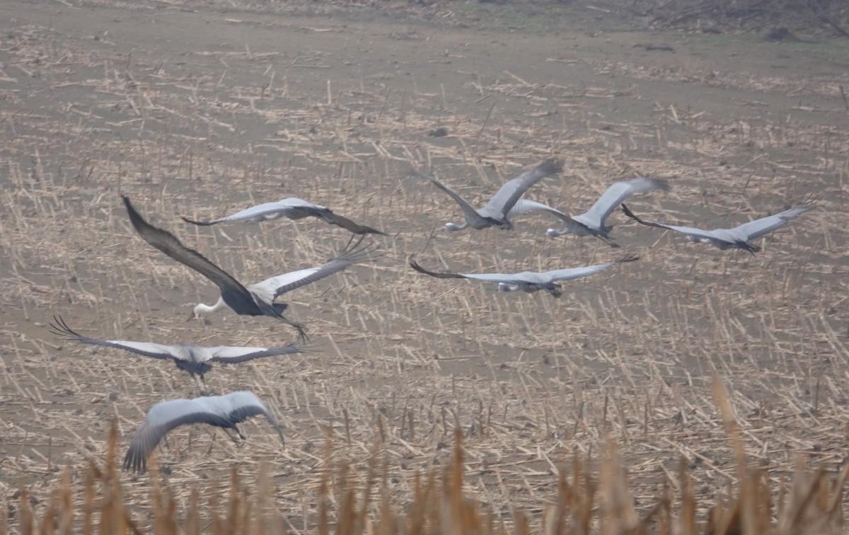
M124 200L124 206L127 206L127 213L130 216L132 228L136 229L136 232L144 241L153 245L156 249L164 252L177 262L194 269L194 271L210 279L221 289L222 294L225 292L238 292L244 296L250 296L248 290L238 280L233 279L233 276L207 260L199 252L193 251L180 243L180 240L175 238L174 234L161 228L155 228L149 222L144 221L138 211L132 207L127 196L121 195L121 199Z

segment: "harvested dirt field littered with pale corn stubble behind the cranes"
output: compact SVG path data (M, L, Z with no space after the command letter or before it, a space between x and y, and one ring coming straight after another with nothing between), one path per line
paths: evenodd
M498 9L503 9L499 12ZM0 493L43 507L61 468L102 459L154 403L196 395L170 363L56 340L60 313L84 335L278 345L293 331L218 313L214 285L143 243L119 192L247 282L315 265L348 236L322 222L195 228L298 196L390 234L380 256L289 295L312 352L207 375L278 414L244 444L182 428L159 450L175 491L216 493L238 466L273 475L291 526L312 526L323 444L362 468L382 439L396 504L413 475L467 434L469 493L537 522L554 470L616 439L636 505L675 490L687 459L702 506L728 494L726 436L711 399L733 395L751 459L774 482L796 459L839 470L849 413L846 217L849 57L841 42L634 31L604 9L443 3L76 3L0 6ZM434 134L444 128L446 136ZM666 178L635 211L708 228L819 207L762 240L718 251L614 214L639 262L565 285L501 294L426 278L552 269L621 256L596 239L549 239L554 220L449 234L447 195L407 177L432 169L484 200L555 156L565 172L527 195L572 213L617 179ZM99 461L98 461L99 462ZM126 476L138 521L148 476ZM669 483L666 483L669 482ZM186 493L181 493L180 504ZM406 497L406 498L405 498ZM704 509L701 511L704 513Z

